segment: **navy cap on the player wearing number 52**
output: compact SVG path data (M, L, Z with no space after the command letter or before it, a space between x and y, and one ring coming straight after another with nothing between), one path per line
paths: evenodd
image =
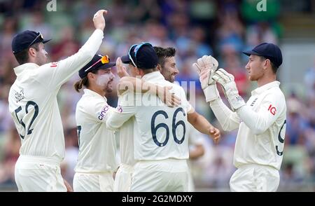
M20 32L16 34L12 40L13 54L20 53L22 50L29 48L34 43L46 43L50 40L51 39L43 39L43 35L41 34L41 32L34 32L29 30Z

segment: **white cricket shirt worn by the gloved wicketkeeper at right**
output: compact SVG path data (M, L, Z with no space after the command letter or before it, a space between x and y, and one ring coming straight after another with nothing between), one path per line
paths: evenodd
M211 109L225 130L239 127L235 167L254 163L280 170L286 133L286 99L279 85L279 81L273 81L256 88L246 106L236 113L221 99L211 102Z

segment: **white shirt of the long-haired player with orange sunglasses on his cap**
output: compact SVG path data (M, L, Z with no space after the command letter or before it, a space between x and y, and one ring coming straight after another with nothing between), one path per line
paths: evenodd
M117 170L115 134L106 128L106 120L112 109L106 97L89 89L84 90L76 105L79 143L76 172Z

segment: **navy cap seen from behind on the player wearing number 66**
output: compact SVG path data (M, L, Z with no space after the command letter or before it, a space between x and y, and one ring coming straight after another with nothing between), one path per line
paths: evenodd
M150 43L133 45L130 48L130 55L121 57L121 60L124 64L133 64L130 57L139 69L153 69L158 66L158 55Z

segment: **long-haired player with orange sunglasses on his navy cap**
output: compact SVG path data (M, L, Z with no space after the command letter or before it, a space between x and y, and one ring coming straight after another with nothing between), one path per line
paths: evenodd
M106 129L106 119L111 107L106 93L112 92L115 77L107 55L94 55L78 72L80 81L76 91L85 86L84 94L76 105L79 154L76 174L73 177L75 192L112 192L113 172L117 170L116 139L112 130Z

